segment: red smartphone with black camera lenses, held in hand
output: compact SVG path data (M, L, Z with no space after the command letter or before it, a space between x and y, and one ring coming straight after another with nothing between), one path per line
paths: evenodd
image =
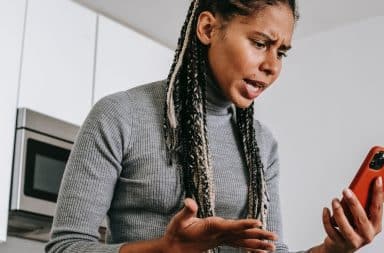
M384 147L374 146L368 152L360 166L360 169L357 171L355 177L349 185L349 188L354 192L360 201L368 217L369 206L372 199L372 187L375 183L375 180L380 176L384 179ZM347 204L345 203L345 200L341 200L341 205L348 220L353 226L355 226L352 214ZM332 224L337 226L333 217Z

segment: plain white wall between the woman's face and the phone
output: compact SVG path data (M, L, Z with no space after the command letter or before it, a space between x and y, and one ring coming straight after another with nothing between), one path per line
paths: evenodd
M279 141L285 240L321 243L322 208L384 145L384 16L293 42L281 79L256 103ZM384 248L384 233L360 252ZM380 249L380 250L379 250Z

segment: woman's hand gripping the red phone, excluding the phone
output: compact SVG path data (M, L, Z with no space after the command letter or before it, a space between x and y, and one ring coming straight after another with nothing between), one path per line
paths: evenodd
M328 208L323 211L323 223L328 236L323 243L322 252L351 253L370 243L382 230L383 217L383 182L382 178L375 181L372 189L373 197L369 207L370 217L350 190L343 192L346 206L351 211L354 226L348 221L338 199L332 201L333 217L338 228L331 224L331 213Z

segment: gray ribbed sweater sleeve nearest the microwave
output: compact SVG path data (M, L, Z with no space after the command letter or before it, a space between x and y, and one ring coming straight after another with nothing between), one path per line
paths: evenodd
M121 244L98 241L98 228L129 146L131 124L122 99L127 99L126 94L101 99L82 125L64 172L45 252L119 252Z

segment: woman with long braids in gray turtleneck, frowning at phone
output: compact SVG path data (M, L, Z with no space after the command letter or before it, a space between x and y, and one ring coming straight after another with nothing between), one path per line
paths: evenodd
M168 80L99 101L83 124L61 185L47 252L288 252L281 238L277 143L253 101L279 76L295 1L194 0ZM165 111L163 108L165 107ZM349 253L381 229L345 191L324 242ZM108 216L108 243L97 229Z

